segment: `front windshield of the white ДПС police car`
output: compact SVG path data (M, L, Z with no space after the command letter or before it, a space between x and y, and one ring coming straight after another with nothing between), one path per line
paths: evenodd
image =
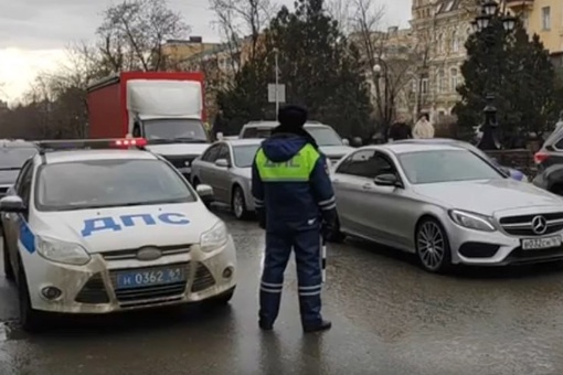
M67 211L194 202L194 194L160 160L96 160L40 167L35 205Z

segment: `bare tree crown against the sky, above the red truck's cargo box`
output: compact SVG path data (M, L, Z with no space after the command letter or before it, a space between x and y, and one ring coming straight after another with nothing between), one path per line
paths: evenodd
M164 63L164 42L181 39L188 31L166 0L125 0L104 11L96 34L104 61L113 71L159 71Z

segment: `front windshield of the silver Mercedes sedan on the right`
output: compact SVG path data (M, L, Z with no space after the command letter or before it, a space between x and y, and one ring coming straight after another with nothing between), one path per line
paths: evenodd
M412 184L504 179L486 161L467 150L433 150L397 156Z

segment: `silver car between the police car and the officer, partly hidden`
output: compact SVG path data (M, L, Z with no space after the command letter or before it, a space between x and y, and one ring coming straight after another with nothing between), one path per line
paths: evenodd
M238 219L252 216L252 163L262 139L221 140L192 162L192 184L211 185L215 201L229 204Z

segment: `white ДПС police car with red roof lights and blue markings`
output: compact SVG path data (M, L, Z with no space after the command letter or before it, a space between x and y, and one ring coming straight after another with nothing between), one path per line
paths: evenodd
M0 200L6 275L24 329L46 312L227 303L236 255L225 224L144 139L38 142ZM115 148L115 149L111 149Z

